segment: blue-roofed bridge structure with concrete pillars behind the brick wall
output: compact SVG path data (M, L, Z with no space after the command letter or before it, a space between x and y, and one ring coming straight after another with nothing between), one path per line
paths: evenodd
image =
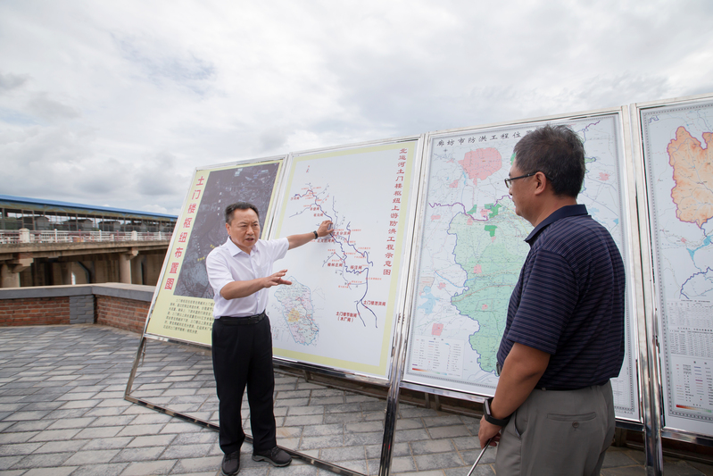
M0 195L0 286L155 285L176 220Z

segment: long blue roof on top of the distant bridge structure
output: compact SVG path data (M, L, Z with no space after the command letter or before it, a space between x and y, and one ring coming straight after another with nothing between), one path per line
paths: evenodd
M79 213L123 219L134 218L137 220L146 220L153 218L175 221L178 219L178 216L176 215L169 215L165 213L140 212L137 210L111 208L108 206L73 204L70 202L60 202L57 200L39 200L37 198L27 198L24 196L10 196L1 194L0 208L33 210L41 213Z

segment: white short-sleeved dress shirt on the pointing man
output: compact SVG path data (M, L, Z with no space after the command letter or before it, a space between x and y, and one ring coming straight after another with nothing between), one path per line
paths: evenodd
M256 280L269 276L272 274L273 263L284 258L289 247L287 238L259 239L248 255L228 237L225 243L212 250L205 258L205 269L213 288L213 317L245 317L262 313L268 305L267 288L236 299L224 299L220 296L220 289L233 281Z

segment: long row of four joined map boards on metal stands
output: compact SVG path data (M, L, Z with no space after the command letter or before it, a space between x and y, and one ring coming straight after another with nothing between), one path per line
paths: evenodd
M544 123L567 124L584 139L587 172L578 202L611 232L626 267L626 355L612 381L617 417L643 422L646 464L655 472L663 464L662 434L709 445L713 96L634 104L634 131L640 136L634 142L636 180L625 145L626 110L454 129L425 140L383 140L196 170L127 396L146 338L210 346L213 300L204 260L227 239L223 210L239 200L260 210L261 238L334 222L329 236L275 263L275 270L288 270L294 284L270 290L273 352L278 360L317 372L388 382L385 448L393 445L402 387L492 396L510 294L532 230L514 213L503 180L520 138ZM638 196L629 189L634 181ZM407 325L403 352L401 329ZM400 364L392 368L394 362Z

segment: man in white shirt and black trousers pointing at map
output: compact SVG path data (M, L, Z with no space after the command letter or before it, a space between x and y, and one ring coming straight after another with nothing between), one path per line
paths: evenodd
M272 265L288 249L303 246L330 233L332 222L319 229L287 238L262 240L257 207L246 202L225 210L228 240L205 259L213 288L212 358L220 415L220 449L225 453L221 472L240 469L240 447L245 440L240 406L247 385L253 460L286 466L292 457L278 448L272 395L272 335L265 314L268 288L292 284L287 270L272 272Z

